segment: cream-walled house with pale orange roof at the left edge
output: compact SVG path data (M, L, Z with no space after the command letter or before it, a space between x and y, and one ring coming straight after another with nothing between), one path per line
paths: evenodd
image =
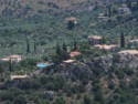
M8 62L8 61L20 62L22 60L22 58L21 58L21 55L14 54L14 55L9 55L9 56L0 59L0 60L6 61L6 62Z

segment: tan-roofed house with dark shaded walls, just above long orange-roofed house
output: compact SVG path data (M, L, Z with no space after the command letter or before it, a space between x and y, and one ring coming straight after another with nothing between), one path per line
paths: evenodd
M102 41L103 41L103 38L99 35L89 35L88 37L88 42L92 45L102 44Z

